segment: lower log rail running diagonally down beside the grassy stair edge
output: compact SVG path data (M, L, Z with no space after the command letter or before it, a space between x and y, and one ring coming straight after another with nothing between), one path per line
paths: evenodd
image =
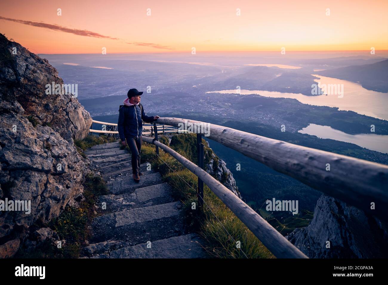
M170 149L170 147L158 142L155 138L142 136L143 142L152 143L165 152L175 157L177 161L196 174L201 180L208 185L210 190L217 195L220 200L239 218L244 225L267 247L274 256L278 258L307 258L303 252L296 248L291 242L275 230L270 224L265 221L258 213L253 211L251 207L245 204L232 191L222 185L219 181L213 178L203 169L196 166L194 163L183 157L182 155Z

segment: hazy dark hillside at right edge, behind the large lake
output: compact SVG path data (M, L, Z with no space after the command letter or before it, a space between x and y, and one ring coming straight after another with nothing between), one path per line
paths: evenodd
M388 92L388 59L361 66L317 71L317 74L357 82L368 90Z

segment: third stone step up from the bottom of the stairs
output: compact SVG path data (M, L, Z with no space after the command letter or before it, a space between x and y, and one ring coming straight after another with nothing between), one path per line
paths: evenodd
M100 204L105 202L108 212L124 211L173 202L172 189L168 183L161 183L136 189L121 195L102 195Z

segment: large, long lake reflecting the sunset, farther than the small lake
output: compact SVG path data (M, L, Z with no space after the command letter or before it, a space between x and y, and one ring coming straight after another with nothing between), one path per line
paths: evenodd
M388 93L371 91L363 88L359 83L341 80L331 77L312 74L319 79L314 81L318 86L343 85L343 97L338 98L336 94L307 96L300 93L270 92L264 90L240 90L241 95L258 94L273 98L295 98L303 104L338 107L339 110L354 111L362 115L388 120ZM206 93L231 93L236 94L236 90L211 91Z

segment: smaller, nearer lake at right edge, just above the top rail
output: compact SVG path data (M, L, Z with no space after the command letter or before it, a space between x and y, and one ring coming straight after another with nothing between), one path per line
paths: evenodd
M314 135L319 138L331 138L332 140L339 140L341 142L354 143L360 147L365 147L366 149L388 153L388 135L376 135L373 133L349 135L329 126L321 126L317 124L309 124L306 128L299 130L298 133Z

